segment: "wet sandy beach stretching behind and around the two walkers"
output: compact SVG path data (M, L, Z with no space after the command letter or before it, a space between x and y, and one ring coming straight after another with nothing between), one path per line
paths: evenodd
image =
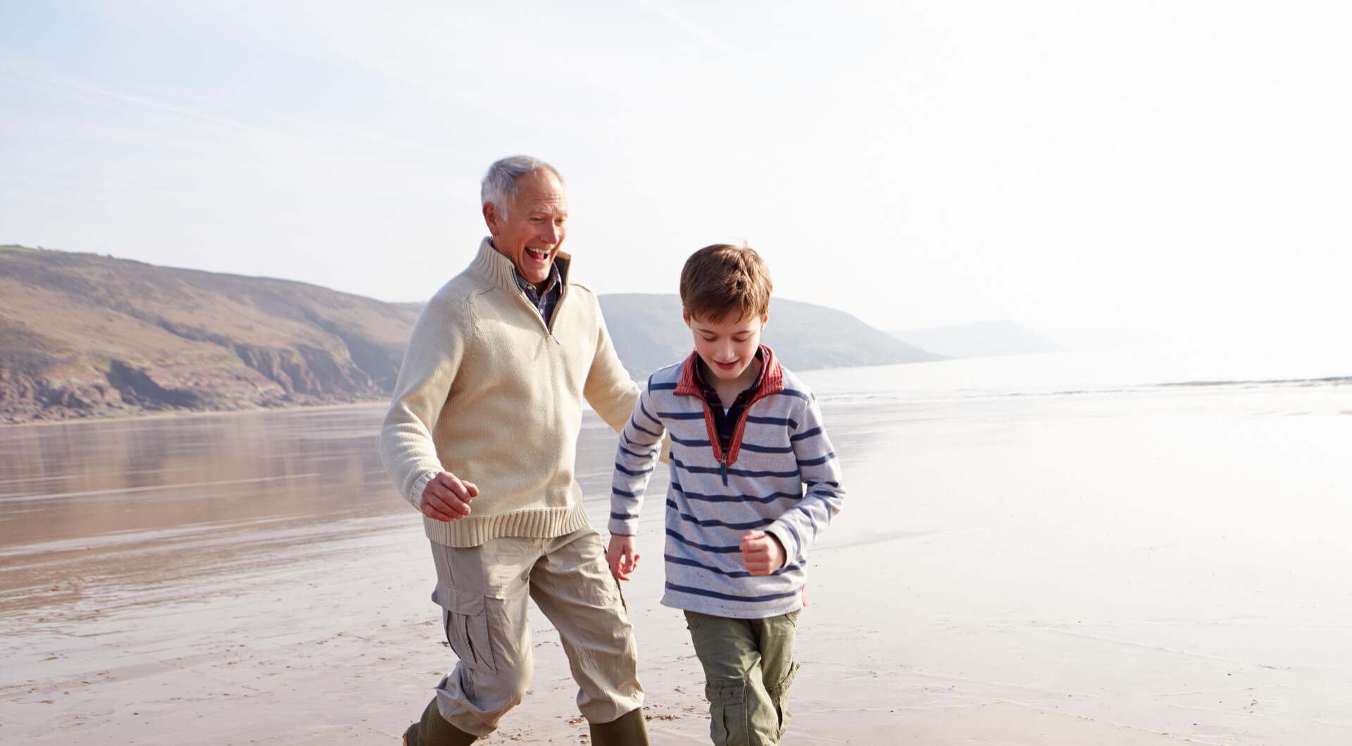
M1352 741L1348 385L823 412L849 493L811 555L786 743ZM0 742L396 743L454 661L381 414L0 430ZM596 526L612 449L589 422ZM707 743L654 505L625 585L649 728ZM533 619L531 693L481 742L585 743Z

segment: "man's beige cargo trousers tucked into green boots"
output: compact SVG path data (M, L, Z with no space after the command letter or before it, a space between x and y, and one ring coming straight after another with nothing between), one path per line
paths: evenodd
M588 722L610 723L642 707L634 627L595 528L475 547L431 542L431 553L433 603L460 657L437 685L437 708L452 726L488 735L526 695L534 669L527 597L558 630Z

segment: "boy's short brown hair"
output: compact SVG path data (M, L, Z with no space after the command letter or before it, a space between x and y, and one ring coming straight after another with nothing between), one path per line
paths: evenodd
M687 316L721 322L769 312L769 268L750 246L715 243L695 251L680 270L680 303Z

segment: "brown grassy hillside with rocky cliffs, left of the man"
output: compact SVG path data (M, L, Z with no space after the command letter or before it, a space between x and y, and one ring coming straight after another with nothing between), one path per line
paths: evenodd
M384 399L418 308L0 249L0 422Z

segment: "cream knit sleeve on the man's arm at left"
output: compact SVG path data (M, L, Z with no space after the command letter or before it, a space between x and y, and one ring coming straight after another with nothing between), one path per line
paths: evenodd
M445 301L429 301L408 338L393 401L380 428L385 470L415 508L423 487L443 470L433 430L464 359L464 339Z

